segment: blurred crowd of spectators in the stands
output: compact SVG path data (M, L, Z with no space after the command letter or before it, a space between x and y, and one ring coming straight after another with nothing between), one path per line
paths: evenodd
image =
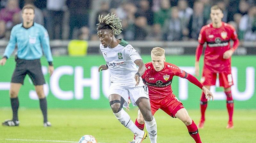
M219 5L223 21L235 27L240 40L256 40L256 0L0 0L0 38L9 39L21 23L21 9L34 4L35 22L53 39L98 40L98 15L122 19L125 40L196 40L211 23L210 8Z

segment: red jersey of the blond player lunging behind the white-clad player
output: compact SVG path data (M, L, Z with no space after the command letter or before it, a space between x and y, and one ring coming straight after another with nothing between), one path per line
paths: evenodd
M164 62L164 68L161 71L156 71L152 62L145 64L146 71L141 76L145 85L148 86L150 99L161 99L166 96L175 97L172 94L171 82L173 76L182 78L187 77L187 73L179 69L176 65Z

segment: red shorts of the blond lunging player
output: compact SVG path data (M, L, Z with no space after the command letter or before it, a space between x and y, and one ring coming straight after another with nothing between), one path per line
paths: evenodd
M162 99L150 99L150 105L152 115L154 115L158 109L161 109L172 118L176 118L175 114L177 111L184 108L183 104L177 99L177 97L173 98L170 96Z

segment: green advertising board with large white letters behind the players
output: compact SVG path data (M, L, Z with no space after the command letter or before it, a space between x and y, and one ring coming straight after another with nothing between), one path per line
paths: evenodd
M151 61L150 56L142 56L144 62ZM45 94L49 108L109 108L108 89L109 72L98 73L98 66L105 64L101 55L86 57L54 57L54 74L49 77L47 61L41 59L46 84ZM167 56L167 62L176 64L181 69L194 75L194 56ZM201 66L202 68L201 59ZM12 72L15 68L13 58L0 66L0 108L10 107L9 88ZM235 85L232 86L235 108L256 109L255 97L256 56L233 56L232 74ZM197 77L200 80L200 77ZM201 89L186 79L174 77L174 94L187 109L199 108ZM211 87L215 101L210 102L210 109L226 109L226 96L218 85ZM38 99L34 86L26 76L19 93L21 107L38 108Z

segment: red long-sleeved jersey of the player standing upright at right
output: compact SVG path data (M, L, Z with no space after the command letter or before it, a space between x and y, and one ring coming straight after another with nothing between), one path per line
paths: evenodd
M196 61L202 54L202 45L206 42L207 46L204 54L204 69L214 73L231 71L231 58L223 59L223 54L230 49L230 39L234 41L233 50L239 44L235 28L222 22L222 26L214 28L211 24L202 27L198 37L200 45L196 50Z

